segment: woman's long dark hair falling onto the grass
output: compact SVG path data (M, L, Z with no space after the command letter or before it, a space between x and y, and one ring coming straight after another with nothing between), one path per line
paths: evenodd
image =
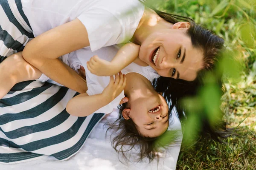
M180 121L185 123L191 114L191 110L186 103L183 102L183 99L198 95L199 91L204 86L204 78L207 72L212 72L213 75L215 75L215 84L218 85L220 91L222 89L221 75L217 71L216 66L222 57L224 39L203 26L198 25L191 18L168 14L154 8L153 10L169 23L175 24L178 20L189 22L190 27L187 30L187 34L191 37L192 45L194 48L201 49L204 53L204 69L198 72L197 78L194 81L188 82L181 79L159 77L153 82L156 91L162 92L165 99L171 103L170 110L175 107ZM224 113L220 109L219 112L222 114L220 117L216 118L217 121L214 125L210 125L210 120L205 111L198 113L202 124L198 131L203 136L209 135L211 139L222 142L221 138L226 137L229 133L226 129L226 122L222 119Z

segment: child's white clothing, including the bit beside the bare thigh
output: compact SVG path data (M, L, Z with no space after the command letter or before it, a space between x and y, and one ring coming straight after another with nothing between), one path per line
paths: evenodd
M107 87L110 77L108 76L96 76L91 74L90 71L87 69L87 61L94 55L98 55L100 58L105 59L107 61L111 61L113 57L116 55L119 47L117 45L112 45L109 47L102 47L99 50L92 52L90 48L82 48L77 51L73 51L70 54L65 54L60 57L60 59L75 71L80 68L80 65L84 66L85 74L86 74L86 82L87 82L87 94L94 95L94 94L101 94L102 91ZM153 82L154 79L160 77L157 72L151 68L150 66L142 67L140 65L135 64L132 62L130 65L122 69L122 74L128 73L138 73L144 76L149 81ZM56 85L60 85L59 83L49 79L46 75L42 74L42 76L38 79L41 82L50 82ZM116 108L119 105L119 102L122 98L125 97L124 91L122 91L119 96L116 97L112 102L108 105L100 108L95 113L111 113L113 108ZM103 99L104 100L104 99ZM101 102L101 101L99 101Z

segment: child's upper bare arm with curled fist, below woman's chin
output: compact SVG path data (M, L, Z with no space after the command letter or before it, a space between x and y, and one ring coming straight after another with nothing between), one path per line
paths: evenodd
M111 76L137 59L139 51L140 45L130 42L119 49L111 62L100 59L98 56L93 56L90 61L87 62L87 68L92 74L97 76Z

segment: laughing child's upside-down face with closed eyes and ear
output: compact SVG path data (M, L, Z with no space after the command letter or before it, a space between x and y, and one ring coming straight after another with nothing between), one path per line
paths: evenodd
M169 126L169 108L166 100L156 91L129 98L129 109L122 114L132 119L143 136L156 137L163 134Z

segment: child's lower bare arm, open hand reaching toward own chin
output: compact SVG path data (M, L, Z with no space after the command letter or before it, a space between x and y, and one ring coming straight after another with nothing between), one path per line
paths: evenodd
M125 88L126 77L121 72L110 77L108 86L102 91L102 94L89 96L87 93L79 94L67 103L67 112L73 116L88 116L100 108L108 105Z

